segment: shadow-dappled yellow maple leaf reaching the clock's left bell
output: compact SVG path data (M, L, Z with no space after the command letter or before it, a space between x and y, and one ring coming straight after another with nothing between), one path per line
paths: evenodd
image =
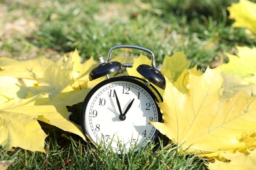
M82 89L79 85L89 82L89 72L97 65L98 63L93 58L81 63L77 50L68 57L64 56L55 62L45 57L26 61L0 58L0 76L12 76L24 82L35 80L34 85L30 86L29 92L35 95L41 92L55 95L65 88L67 90L67 86L70 86L69 90ZM26 83L22 84L22 88L28 89Z

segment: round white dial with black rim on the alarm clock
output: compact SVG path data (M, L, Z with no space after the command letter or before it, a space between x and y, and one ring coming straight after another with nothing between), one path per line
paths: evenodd
M120 153L156 137L150 122L158 122L158 107L141 84L117 80L92 91L83 104L82 126L95 143L111 144Z

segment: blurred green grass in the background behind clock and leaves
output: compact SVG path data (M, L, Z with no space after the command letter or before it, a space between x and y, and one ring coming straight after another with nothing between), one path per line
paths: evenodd
M244 29L231 27L226 7L235 2L0 0L0 56L59 57L77 48L83 58L98 58L112 46L133 44L152 50L158 63L184 51L191 66L216 67L236 45L256 45Z

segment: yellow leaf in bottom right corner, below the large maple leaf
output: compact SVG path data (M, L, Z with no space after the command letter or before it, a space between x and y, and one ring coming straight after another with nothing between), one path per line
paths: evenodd
M242 152L226 152L220 155L224 157L226 162L216 160L213 163L209 163L207 167L209 169L241 169L241 170L253 170L256 167L256 150L248 150L247 154Z

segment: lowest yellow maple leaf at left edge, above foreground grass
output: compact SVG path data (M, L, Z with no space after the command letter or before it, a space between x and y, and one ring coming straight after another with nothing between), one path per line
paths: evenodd
M22 101L8 101L0 105L0 144L9 150L13 146L32 151L44 150L44 141L47 135L37 122L37 116L24 114L23 111L16 112L9 109L16 109L22 105L30 105L32 99ZM35 110L33 109L35 112Z

